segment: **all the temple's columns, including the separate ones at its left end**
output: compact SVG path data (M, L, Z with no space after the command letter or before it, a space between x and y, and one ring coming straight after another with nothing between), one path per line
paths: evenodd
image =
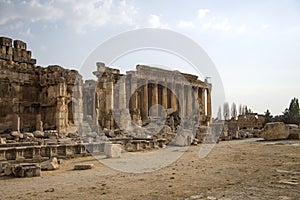
M105 111L139 109L141 119L149 118L151 106L160 104L165 109L178 110L181 117L190 116L200 110L201 116L211 117L211 91L209 88L179 83L162 83L147 79L125 79L115 85L112 81L105 84ZM158 106L151 109L152 116L159 116ZM204 119L203 117L200 119ZM113 127L113 119L105 119L106 127Z

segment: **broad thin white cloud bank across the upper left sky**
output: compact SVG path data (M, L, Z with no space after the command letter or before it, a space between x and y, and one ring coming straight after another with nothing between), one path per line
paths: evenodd
M57 0L44 3L41 0L23 2L0 1L0 26L11 21L24 23L61 22L77 32L112 24L133 25L137 10L126 0Z

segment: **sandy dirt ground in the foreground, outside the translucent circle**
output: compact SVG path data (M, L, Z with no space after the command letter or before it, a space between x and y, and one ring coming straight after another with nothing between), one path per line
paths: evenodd
M91 156L64 160L41 177L0 177L0 199L300 199L300 141L222 141L202 159L199 148L145 173L117 171ZM72 170L78 163L95 167Z

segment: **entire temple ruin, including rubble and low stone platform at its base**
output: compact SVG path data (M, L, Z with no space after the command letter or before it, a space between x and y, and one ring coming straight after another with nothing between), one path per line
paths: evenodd
M0 163L103 153L105 146L119 156L114 145L140 151L209 135L207 80L145 65L125 74L96 67L97 80L83 81L76 70L36 65L26 43L0 37Z

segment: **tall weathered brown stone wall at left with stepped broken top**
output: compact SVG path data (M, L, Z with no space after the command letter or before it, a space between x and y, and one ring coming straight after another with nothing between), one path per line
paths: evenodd
M82 120L79 73L57 65L36 66L20 40L0 37L0 49L0 133L74 131Z

